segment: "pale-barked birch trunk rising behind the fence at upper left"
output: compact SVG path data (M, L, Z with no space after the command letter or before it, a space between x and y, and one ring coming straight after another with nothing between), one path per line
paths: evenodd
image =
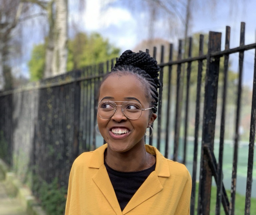
M44 77L65 73L67 71L67 0L23 0L47 11L49 31L45 41Z

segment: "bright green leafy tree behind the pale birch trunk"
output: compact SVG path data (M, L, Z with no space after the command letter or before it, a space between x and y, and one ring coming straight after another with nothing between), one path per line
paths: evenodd
M45 51L45 44L35 45L33 48L31 59L28 62L31 81L43 78ZM97 33L89 36L85 33L77 33L74 39L68 41L67 71L105 62L118 57L119 53L119 48L109 44L108 39L102 38Z

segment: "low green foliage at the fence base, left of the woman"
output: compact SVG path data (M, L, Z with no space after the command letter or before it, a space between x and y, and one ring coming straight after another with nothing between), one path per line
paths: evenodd
M33 189L37 191L41 205L48 215L64 214L67 190L59 186L57 177L50 184L35 178Z

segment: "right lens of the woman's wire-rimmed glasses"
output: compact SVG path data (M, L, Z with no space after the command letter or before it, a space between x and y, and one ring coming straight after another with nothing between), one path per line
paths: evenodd
M137 102L125 102L122 104L123 113L130 119L138 119L142 113L142 106Z

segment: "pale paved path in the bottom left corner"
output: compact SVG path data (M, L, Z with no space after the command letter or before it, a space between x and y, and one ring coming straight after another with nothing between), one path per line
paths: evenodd
M27 215L19 200L7 195L3 181L0 181L0 215Z

